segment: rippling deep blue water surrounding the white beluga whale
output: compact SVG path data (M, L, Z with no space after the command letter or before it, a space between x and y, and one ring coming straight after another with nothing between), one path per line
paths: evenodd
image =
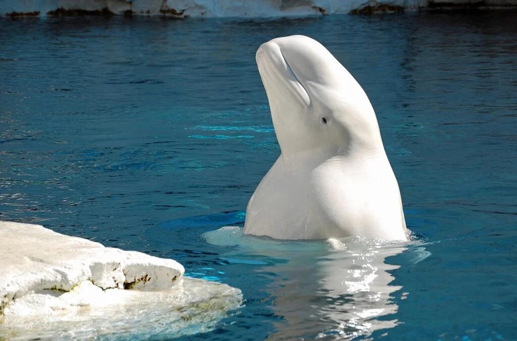
M517 339L516 29L508 12L0 18L0 219L242 290L189 339ZM254 53L290 34L366 90L416 241L206 235L242 226L279 154Z

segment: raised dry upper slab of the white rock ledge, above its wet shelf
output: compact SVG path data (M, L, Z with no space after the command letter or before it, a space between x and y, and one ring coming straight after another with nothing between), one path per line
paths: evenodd
M104 247L40 225L0 222L0 250L0 314L27 293L71 291L85 281L102 290L166 290L185 272L172 259Z

